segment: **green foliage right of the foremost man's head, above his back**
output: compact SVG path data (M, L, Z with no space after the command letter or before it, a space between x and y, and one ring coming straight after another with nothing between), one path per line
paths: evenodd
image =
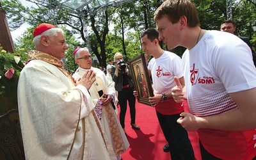
M200 18L201 27L204 29L220 30L223 20L227 20L227 5L223 0L193 0ZM256 1L255 0L233 0L232 17L237 24L237 36L249 36L255 46L256 33L252 30L256 26Z

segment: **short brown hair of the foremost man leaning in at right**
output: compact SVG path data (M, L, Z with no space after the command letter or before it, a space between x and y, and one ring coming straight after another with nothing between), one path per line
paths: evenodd
M166 0L161 4L154 13L154 20L166 16L172 24L179 21L180 17L187 18L189 28L200 26L200 20L196 7L189 0Z

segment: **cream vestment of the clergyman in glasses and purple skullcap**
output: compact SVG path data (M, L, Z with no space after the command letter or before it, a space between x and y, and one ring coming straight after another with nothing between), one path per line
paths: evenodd
M113 95L114 97L114 83L109 81L109 79L105 76L104 72L102 72L102 70L100 70L99 68L92 67L91 69L93 70L93 72L96 73L96 81L94 82L94 84L92 84L89 90L94 104L96 104L96 102L100 98L100 90L102 90L103 93ZM83 68L77 68L76 72L73 75L74 79L83 77L85 71L86 70ZM108 135L110 143L113 145L116 156L124 153L129 147L129 142L111 104L109 104L108 106L102 106L102 119L100 120L100 122L104 128L104 131Z

